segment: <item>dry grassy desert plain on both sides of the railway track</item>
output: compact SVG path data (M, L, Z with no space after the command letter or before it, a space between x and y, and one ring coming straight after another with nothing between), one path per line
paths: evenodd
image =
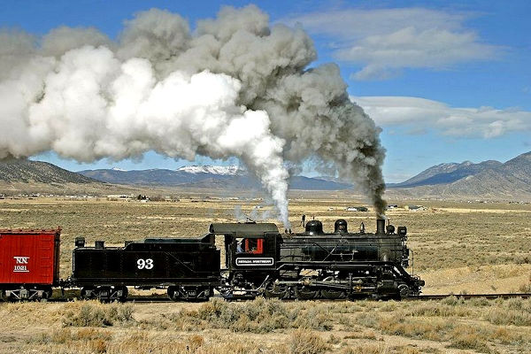
M0 228L62 227L61 277L71 272L76 236L123 244L146 237L201 235L212 222L246 214L268 219L259 198L181 196L174 202L106 198L0 200ZM413 268L425 294L531 290L531 205L389 201L390 222L408 227ZM326 230L347 219L350 230L375 228L373 211L345 194L293 194L300 217ZM412 212L404 205L422 204ZM278 224L283 229L283 226ZM213 310L212 310L213 309ZM431 302L290 302L205 304L0 304L0 352L50 353L461 353L531 352L531 300L450 297Z

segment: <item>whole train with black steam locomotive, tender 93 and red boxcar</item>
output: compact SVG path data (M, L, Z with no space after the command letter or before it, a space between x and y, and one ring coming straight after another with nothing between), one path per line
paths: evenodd
M403 299L424 286L404 269L410 260L406 227L386 227L384 219L373 234L365 227L350 233L338 219L333 233L312 220L301 234L281 234L272 223L214 223L200 237L149 238L123 247L87 246L78 237L65 281L58 279L59 233L0 230L4 298L42 299L59 287L81 288L82 298L126 301L127 287L135 287L167 289L176 301L206 300L215 291L227 299ZM20 261L24 265L15 264Z

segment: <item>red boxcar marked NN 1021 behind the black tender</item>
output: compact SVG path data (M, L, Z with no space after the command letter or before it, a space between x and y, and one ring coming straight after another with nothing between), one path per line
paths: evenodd
M11 299L51 296L59 282L61 229L0 230L0 290Z

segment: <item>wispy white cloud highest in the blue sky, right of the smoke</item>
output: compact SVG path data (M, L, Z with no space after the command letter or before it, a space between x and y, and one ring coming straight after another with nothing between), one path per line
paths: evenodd
M387 79L404 68L446 69L496 58L500 47L463 26L470 16L422 8L337 10L283 19L330 40L335 58L363 65L358 80Z

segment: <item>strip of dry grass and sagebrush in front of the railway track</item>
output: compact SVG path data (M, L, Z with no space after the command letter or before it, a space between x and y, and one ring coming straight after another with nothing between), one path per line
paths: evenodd
M2 352L417 353L526 352L531 300L204 304L1 304ZM43 315L45 314L45 315ZM40 316L40 317L39 317ZM31 334L31 335L29 335ZM29 336L28 336L29 335ZM425 344L423 344L425 343ZM10 350L11 348L11 350ZM15 350L17 349L17 350ZM366 351L363 351L366 350Z

